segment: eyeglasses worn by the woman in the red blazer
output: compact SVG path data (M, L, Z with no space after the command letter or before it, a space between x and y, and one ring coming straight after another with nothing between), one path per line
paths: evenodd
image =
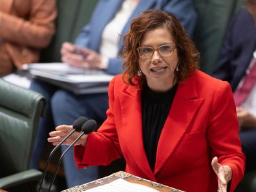
M157 51L158 54L162 58L166 58L166 57L171 56L173 54L174 50L175 50L175 45L173 45L173 44L161 45L158 48L152 48L152 47L138 47L137 48L138 55L141 58L145 58L145 59L152 58L155 51Z

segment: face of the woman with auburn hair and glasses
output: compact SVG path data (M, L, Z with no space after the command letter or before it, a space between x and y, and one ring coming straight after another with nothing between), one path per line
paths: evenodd
M165 46L159 48L162 45L175 45L173 37L166 27L160 27L146 32L140 47L158 48L158 51L162 54L166 49ZM167 46L167 48L169 47ZM163 92L173 87L175 69L178 63L177 51L175 47L173 48L173 53L169 56L162 57L155 49L151 58L139 58L140 69L145 75L147 85L153 91ZM149 50L144 50L150 51L150 48Z

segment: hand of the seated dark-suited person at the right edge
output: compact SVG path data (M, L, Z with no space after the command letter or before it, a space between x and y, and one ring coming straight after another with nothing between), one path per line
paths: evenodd
M256 127L256 116L242 107L237 107L237 118L239 120L240 129Z

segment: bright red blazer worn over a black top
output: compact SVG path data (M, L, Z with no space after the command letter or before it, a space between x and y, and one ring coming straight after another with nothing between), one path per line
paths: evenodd
M151 171L142 137L141 90L127 85L122 75L109 85L107 120L89 135L85 148L75 147L78 167L107 165L124 156L128 173L183 191L216 192L211 160L233 171L233 191L244 174L244 154L231 88L197 70L178 85L158 142Z

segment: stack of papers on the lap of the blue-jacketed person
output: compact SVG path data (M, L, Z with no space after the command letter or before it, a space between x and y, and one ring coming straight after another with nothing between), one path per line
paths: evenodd
M114 77L102 70L85 70L67 63L31 63L27 69L36 78L75 94L107 92L109 81Z

